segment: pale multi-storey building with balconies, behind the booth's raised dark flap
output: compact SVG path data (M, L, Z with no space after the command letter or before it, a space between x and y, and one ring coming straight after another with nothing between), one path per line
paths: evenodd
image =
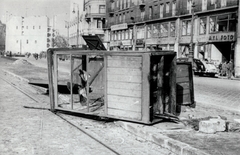
M86 45L82 35L104 36L105 0L71 1L69 22L70 46Z

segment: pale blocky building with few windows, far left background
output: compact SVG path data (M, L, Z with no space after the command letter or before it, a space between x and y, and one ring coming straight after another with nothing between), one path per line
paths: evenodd
M6 23L5 51L14 53L40 53L52 47L53 28L46 16L12 16Z

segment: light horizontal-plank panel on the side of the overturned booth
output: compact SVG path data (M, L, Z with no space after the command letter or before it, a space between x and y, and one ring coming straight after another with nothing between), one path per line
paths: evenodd
M108 56L107 115L141 120L142 57Z

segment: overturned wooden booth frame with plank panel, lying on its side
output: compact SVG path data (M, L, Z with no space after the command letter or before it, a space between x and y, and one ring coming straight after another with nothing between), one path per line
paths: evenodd
M49 95L50 108L52 111L69 111L74 113L96 115L101 117L116 118L128 121L134 121L145 124L152 124L160 119L155 117L153 112L153 102L151 96L151 74L152 74L152 58L156 62L160 58L164 61L164 72L161 73L161 79L166 80L166 84L162 85L161 91L167 86L168 104L164 112L175 114L176 112L176 53L173 51L99 51L99 50L81 50L81 49L49 49L48 52L48 77L49 77ZM70 108L63 109L59 107L58 93L58 56L70 56ZM90 86L93 81L87 80L86 83L86 109L75 109L75 101L73 98L73 72L81 65L74 68L74 59L81 57L82 69L86 72L91 71L89 65L90 56L100 56L103 58L100 70L103 72L104 96L103 112L92 112ZM166 60L166 61L165 61ZM102 70L103 69L103 70ZM93 77L95 80L96 77ZM157 87L156 87L157 88ZM69 96L68 96L69 97ZM80 101L81 102L81 101ZM92 104L92 103L91 103ZM155 104L158 104L157 102Z

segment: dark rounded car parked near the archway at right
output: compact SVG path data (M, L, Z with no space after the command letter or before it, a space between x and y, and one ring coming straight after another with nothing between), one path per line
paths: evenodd
M177 61L179 62L187 62L188 58L178 58ZM200 59L193 59L193 72L195 75L199 76L211 76L215 77L218 74L218 70L216 66L208 61L202 61Z

